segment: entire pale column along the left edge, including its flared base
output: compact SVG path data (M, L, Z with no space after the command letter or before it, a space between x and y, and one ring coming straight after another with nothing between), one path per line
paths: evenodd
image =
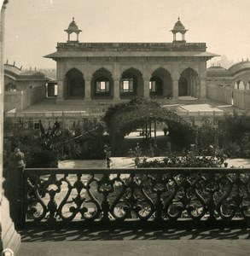
M1 9L1 24L0 24L0 96L1 96L1 108L0 108L0 252L13 251L18 253L20 247L20 235L15 231L15 226L12 219L9 216L9 201L6 199L3 192L3 96L4 96L4 83L3 83L3 23L4 23L4 11L8 1L3 2ZM7 255L7 254L6 254Z

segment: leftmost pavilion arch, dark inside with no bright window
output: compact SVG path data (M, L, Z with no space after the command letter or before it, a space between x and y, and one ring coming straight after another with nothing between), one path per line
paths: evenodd
M64 83L66 84L66 91L64 93L66 98L73 100L84 98L84 75L78 70L78 68L73 67L67 71Z

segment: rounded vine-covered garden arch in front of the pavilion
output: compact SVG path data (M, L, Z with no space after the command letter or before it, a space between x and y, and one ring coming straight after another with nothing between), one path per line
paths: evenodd
M195 128L181 117L158 102L142 98L134 98L130 102L119 103L108 108L104 115L111 138L113 152L119 152L124 137L137 128L146 125L149 120L166 122L170 137L181 147L189 147L194 143Z

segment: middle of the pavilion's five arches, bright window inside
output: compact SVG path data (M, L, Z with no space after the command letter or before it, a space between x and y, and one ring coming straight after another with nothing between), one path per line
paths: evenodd
M120 97L143 96L142 73L138 69L131 67L121 74L119 83Z

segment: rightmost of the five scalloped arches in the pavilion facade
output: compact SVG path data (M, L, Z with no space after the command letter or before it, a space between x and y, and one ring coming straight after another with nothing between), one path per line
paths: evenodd
M199 75L191 67L185 68L178 81L179 96L199 97Z

